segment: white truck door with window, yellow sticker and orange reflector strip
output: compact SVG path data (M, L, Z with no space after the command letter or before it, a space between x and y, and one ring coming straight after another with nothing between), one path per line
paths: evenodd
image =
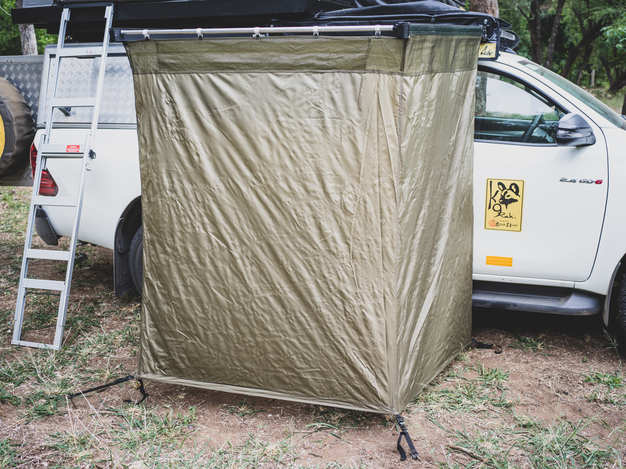
M607 146L582 114L597 142L558 147L558 119L568 112L578 111L512 75L478 72L474 273L568 281L590 275L607 200Z

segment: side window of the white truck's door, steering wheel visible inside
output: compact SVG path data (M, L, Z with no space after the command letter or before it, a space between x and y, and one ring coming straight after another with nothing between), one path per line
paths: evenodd
M522 83L493 73L476 76L475 140L555 144L567 114Z

